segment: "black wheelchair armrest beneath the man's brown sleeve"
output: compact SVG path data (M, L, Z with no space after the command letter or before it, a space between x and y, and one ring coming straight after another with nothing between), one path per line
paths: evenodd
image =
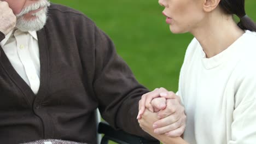
M98 133L104 134L101 144L107 144L109 140L121 144L159 144L156 140L146 140L142 137L125 133L122 130L115 130L106 122L100 122L98 125Z

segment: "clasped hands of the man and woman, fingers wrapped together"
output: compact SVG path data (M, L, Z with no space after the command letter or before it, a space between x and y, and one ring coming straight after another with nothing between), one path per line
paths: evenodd
M186 116L181 99L165 88L142 95L137 116L140 127L152 135L181 136L185 130Z

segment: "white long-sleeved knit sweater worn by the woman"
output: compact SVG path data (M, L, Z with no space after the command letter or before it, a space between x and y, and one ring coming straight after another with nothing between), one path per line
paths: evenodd
M256 143L256 33L246 31L228 49L206 58L191 41L179 91L189 143Z

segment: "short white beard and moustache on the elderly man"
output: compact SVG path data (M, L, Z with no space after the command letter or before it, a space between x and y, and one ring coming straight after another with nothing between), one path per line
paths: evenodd
M28 5L26 8L23 8L20 14L16 15L17 22L16 28L20 29L20 31L27 32L27 31L38 31L42 29L47 20L47 11L50 3L48 0L41 0L37 3ZM24 19L24 15L29 13L32 10L37 10L39 8L44 7L42 10L38 11L37 13L32 14L36 16L32 20Z

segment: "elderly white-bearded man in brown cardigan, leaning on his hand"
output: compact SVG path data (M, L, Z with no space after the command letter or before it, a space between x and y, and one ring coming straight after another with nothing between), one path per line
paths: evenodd
M138 101L148 90L88 17L47 0L5 0L0 31L1 143L96 143L97 108L113 127L152 139L136 119ZM161 100L155 101L153 108L161 109ZM165 115L170 121L159 120L161 127L178 123L168 131L184 125L171 114Z

